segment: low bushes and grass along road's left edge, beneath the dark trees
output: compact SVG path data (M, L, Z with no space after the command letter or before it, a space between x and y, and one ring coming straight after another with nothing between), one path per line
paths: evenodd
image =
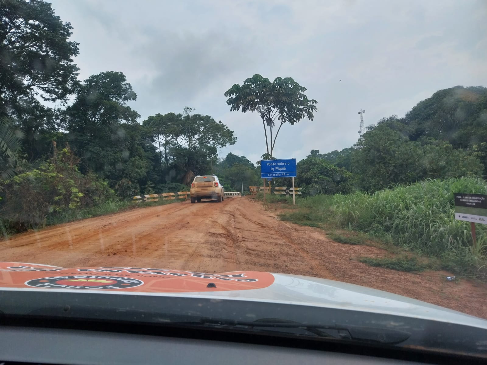
M0 209L3 237L46 225L120 212L136 206L169 204L177 200L136 203L120 199L108 183L95 174L78 171L79 159L64 148L56 159L4 180ZM173 184L173 190L187 186ZM177 192L174 191L174 192Z

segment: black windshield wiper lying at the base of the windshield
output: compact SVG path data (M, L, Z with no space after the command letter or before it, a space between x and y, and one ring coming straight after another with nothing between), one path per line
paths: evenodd
M320 337L340 338L352 341L361 341L369 343L380 343L388 345L397 345L406 341L411 333L398 329L386 329L379 327L366 327L354 325L324 325L324 324L305 324L300 322L289 321L280 318L262 318L256 321L237 321L228 319L200 318L197 321L172 322L171 324L182 325L211 325L224 327L246 327L252 328L274 328L274 329L304 329ZM333 336L323 330L336 330L337 336Z

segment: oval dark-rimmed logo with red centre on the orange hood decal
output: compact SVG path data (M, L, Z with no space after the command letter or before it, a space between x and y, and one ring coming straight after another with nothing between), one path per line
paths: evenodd
M121 276L51 276L33 279L25 282L25 285L34 288L52 289L127 289L138 287L143 281Z

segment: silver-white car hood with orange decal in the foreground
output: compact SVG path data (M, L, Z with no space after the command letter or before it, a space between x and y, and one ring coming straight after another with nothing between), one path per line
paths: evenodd
M238 299L402 315L487 329L487 321L402 295L317 277L238 271L209 274L159 268L60 268L0 262L1 291Z

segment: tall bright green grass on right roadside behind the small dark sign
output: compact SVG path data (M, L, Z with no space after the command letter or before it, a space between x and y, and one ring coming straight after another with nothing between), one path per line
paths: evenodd
M397 246L441 257L446 269L487 275L487 226L477 224L473 245L470 223L455 220L453 213L453 193L486 194L486 185L479 178L451 178L397 185L373 195L319 195L300 200L301 212L284 219L306 212L308 220L388 235Z

